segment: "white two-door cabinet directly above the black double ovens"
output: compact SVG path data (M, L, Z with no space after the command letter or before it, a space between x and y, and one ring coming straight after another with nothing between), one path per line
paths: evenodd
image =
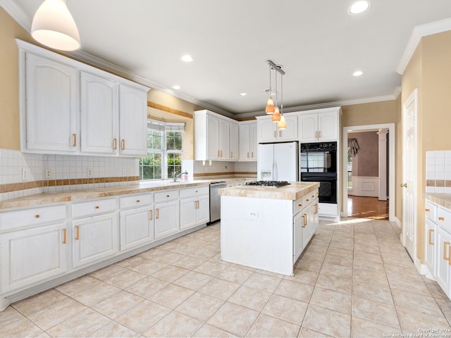
M340 107L299 113L299 141L337 141L340 127Z

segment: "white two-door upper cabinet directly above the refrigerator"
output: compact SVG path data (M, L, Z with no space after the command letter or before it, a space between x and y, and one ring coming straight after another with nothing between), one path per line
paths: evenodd
M257 116L258 143L297 141L297 115L284 114L286 129L278 129L272 115Z

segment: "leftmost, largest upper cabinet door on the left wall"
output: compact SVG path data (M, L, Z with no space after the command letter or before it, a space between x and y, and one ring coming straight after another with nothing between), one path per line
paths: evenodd
M26 150L71 154L78 151L77 71L27 53Z

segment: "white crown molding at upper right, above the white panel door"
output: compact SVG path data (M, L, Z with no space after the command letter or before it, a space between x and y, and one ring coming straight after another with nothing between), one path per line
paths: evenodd
M402 54L400 63L396 68L396 72L400 75L404 73L404 70L406 70L406 67L409 64L412 55L414 55L416 47L418 46L422 37L446 32L447 30L451 30L451 18L414 27L409 42L407 42L406 49L404 49L404 54Z

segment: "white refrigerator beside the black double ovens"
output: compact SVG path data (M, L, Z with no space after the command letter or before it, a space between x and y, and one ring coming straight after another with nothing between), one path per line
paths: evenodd
M257 156L257 180L299 180L297 142L259 144Z

